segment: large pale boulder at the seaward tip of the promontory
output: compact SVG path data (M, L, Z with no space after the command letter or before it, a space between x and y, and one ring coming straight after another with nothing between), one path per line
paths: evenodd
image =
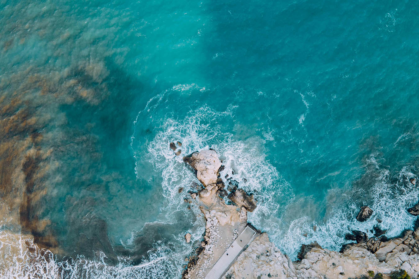
M214 150L194 152L183 159L197 171L197 178L205 187L217 182L217 172L221 161Z

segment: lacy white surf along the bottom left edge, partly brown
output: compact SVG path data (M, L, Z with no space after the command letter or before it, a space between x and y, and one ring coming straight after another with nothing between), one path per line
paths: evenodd
M123 258L119 259L119 264L108 265L104 254L93 260L78 256L76 259L57 261L52 253L50 258L43 256L39 250L31 253L25 241L31 242L31 239L7 230L0 231L0 278L158 279L170 275L176 278L176 274L180 274L181 259L171 257L173 251L161 243L155 244L141 264L132 266Z

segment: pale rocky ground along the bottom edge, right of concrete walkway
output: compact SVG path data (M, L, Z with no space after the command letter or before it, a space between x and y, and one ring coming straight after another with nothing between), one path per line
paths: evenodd
M394 246L396 243L386 245L387 250L398 247ZM385 260L380 261L374 253L359 246L352 246L342 253L323 249L318 244L304 247L301 261L292 262L263 233L238 257L222 279L349 279L372 273L389 278L389 274L401 269L412 278L419 275L419 255L393 251L395 248L383 253Z

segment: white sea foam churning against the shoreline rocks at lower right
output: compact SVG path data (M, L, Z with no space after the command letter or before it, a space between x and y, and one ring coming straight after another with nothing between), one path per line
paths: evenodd
M370 230L374 225L379 225L381 229L387 230L388 237L395 237L403 230L412 228L416 217L410 215L406 208L417 202L419 190L406 182L407 178L414 177L413 172L416 171L414 166L403 167L398 174L398 181L392 183L389 170L380 168L374 154L365 161L367 171L364 177L372 177L374 180L370 188L360 189L355 184L354 188L345 192L332 189L329 195L335 198L330 200L335 200L335 202L327 204L328 213L323 223L317 223L313 220L314 218L303 214L302 217L292 220L289 224L283 223L279 229L277 224L266 228L271 240L295 259L301 244L313 241L317 241L323 248L339 251L342 244L350 242L344 239L344 235L351 230L366 232L371 237L373 233ZM356 220L356 215L362 205L359 204L360 197L363 199L367 197L369 200L367 205L374 211L371 218L365 222ZM341 202L336 202L336 200ZM291 207L295 202L290 202L287 207L295 211L295 208ZM378 224L376 218L381 219L382 223ZM278 218L271 218L271 222L264 222L264 224L272 224L275 220Z

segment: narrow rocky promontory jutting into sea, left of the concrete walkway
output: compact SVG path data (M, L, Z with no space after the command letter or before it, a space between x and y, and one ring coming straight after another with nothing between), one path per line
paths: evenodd
M203 239L189 256L182 278L203 279L222 253L230 246L247 224L246 208L228 205L219 195L224 183L219 177L221 161L213 150L194 152L184 161L197 171L198 180L204 185L194 185L191 198L197 202L206 220Z

